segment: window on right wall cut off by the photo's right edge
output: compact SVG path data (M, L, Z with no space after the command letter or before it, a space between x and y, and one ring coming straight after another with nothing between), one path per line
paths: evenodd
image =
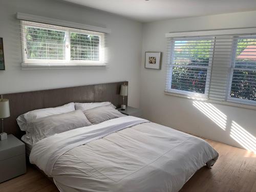
M256 101L256 36L234 37L229 100Z

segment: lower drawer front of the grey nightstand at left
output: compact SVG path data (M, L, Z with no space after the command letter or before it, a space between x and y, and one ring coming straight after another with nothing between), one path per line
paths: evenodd
M26 173L25 153L0 161L0 183Z

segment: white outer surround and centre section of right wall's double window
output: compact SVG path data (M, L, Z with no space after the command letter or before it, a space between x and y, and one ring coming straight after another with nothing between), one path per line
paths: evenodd
M233 67L233 63L231 62L233 59L233 49L227 49L225 52L225 54L230 54L230 59L227 60L227 58L224 58L224 60L219 60L219 56L217 56L217 60L215 60L216 57L213 58L213 62L212 62L212 66L211 66L211 74L210 74L210 86L209 86L209 94L208 94L208 98L206 99L202 99L199 97L191 97L187 94L184 93L175 93L175 92L170 92L169 89L167 89L167 87L170 86L170 78L168 78L170 76L170 67L169 67L169 63L170 63L170 57L171 52L170 52L170 41L173 38L196 38L196 37L215 37L218 38L218 42L215 41L217 48L217 52L220 53L221 51L219 50L222 49L221 46L227 46L228 45L222 45L222 42L220 39L223 38L227 38L227 42L228 42L228 38L232 37L231 40L231 46L233 45L233 40L234 38L236 38L237 36L255 36L256 35L256 28L242 28L242 29L221 29L221 30L207 30L207 31L189 31L189 32L169 32L165 34L165 37L167 38L167 49L166 49L166 77L165 77L165 90L164 90L164 94L166 95L170 95L170 96L177 96L177 97L183 97L183 98L188 98L188 99L193 99L193 100L204 100L204 101L208 101L211 103L218 103L218 104L224 104L224 105L229 105L229 106L236 106L239 108L246 108L246 109L252 109L252 110L256 110L256 104L255 101L253 100L247 100L247 99L240 99L240 98L234 98L234 97L230 97L230 90L231 90L231 83L232 83L232 76L233 76L233 71L236 70L237 68L232 68ZM215 51L216 51L216 46L215 46ZM215 52L214 51L214 52ZM221 55L221 54L217 54L217 55ZM224 55L225 56L225 55ZM227 60L227 61L225 61ZM220 81L221 87L218 88L218 84L219 84L219 80L218 80L218 74L217 71L222 71L222 67L220 66L221 62L226 62L225 66L223 67L223 72L222 75L220 75L220 78L222 78L222 81ZM242 68L246 71L248 71L248 69L246 68ZM241 69L239 69L241 70ZM253 70L249 70L249 71L253 71ZM255 71L255 70L254 70ZM224 77L226 76L226 78L224 79ZM225 87L225 89L223 89ZM218 90L219 89L219 90ZM218 94L218 91L222 92L220 94Z

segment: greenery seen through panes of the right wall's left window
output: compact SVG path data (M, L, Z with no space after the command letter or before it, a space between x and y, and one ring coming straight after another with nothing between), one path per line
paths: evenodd
M211 43L211 40L175 41L172 89L205 93L207 69L195 66L209 65Z

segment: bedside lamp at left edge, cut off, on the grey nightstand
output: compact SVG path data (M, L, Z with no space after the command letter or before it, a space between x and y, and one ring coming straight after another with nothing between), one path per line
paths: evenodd
M4 118L10 117L9 99L0 99L0 119L2 119L2 133L0 133L0 140L7 139L7 134L4 133Z

